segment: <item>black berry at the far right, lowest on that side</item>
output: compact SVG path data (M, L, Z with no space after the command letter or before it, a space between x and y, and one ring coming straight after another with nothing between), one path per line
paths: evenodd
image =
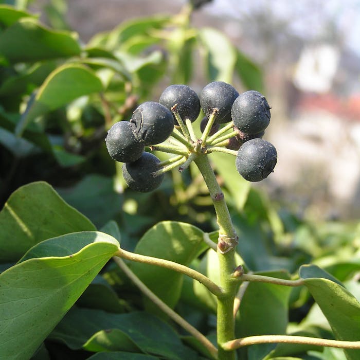
M246 141L239 149L235 165L239 174L251 182L261 181L273 172L277 152L270 142L263 139Z

